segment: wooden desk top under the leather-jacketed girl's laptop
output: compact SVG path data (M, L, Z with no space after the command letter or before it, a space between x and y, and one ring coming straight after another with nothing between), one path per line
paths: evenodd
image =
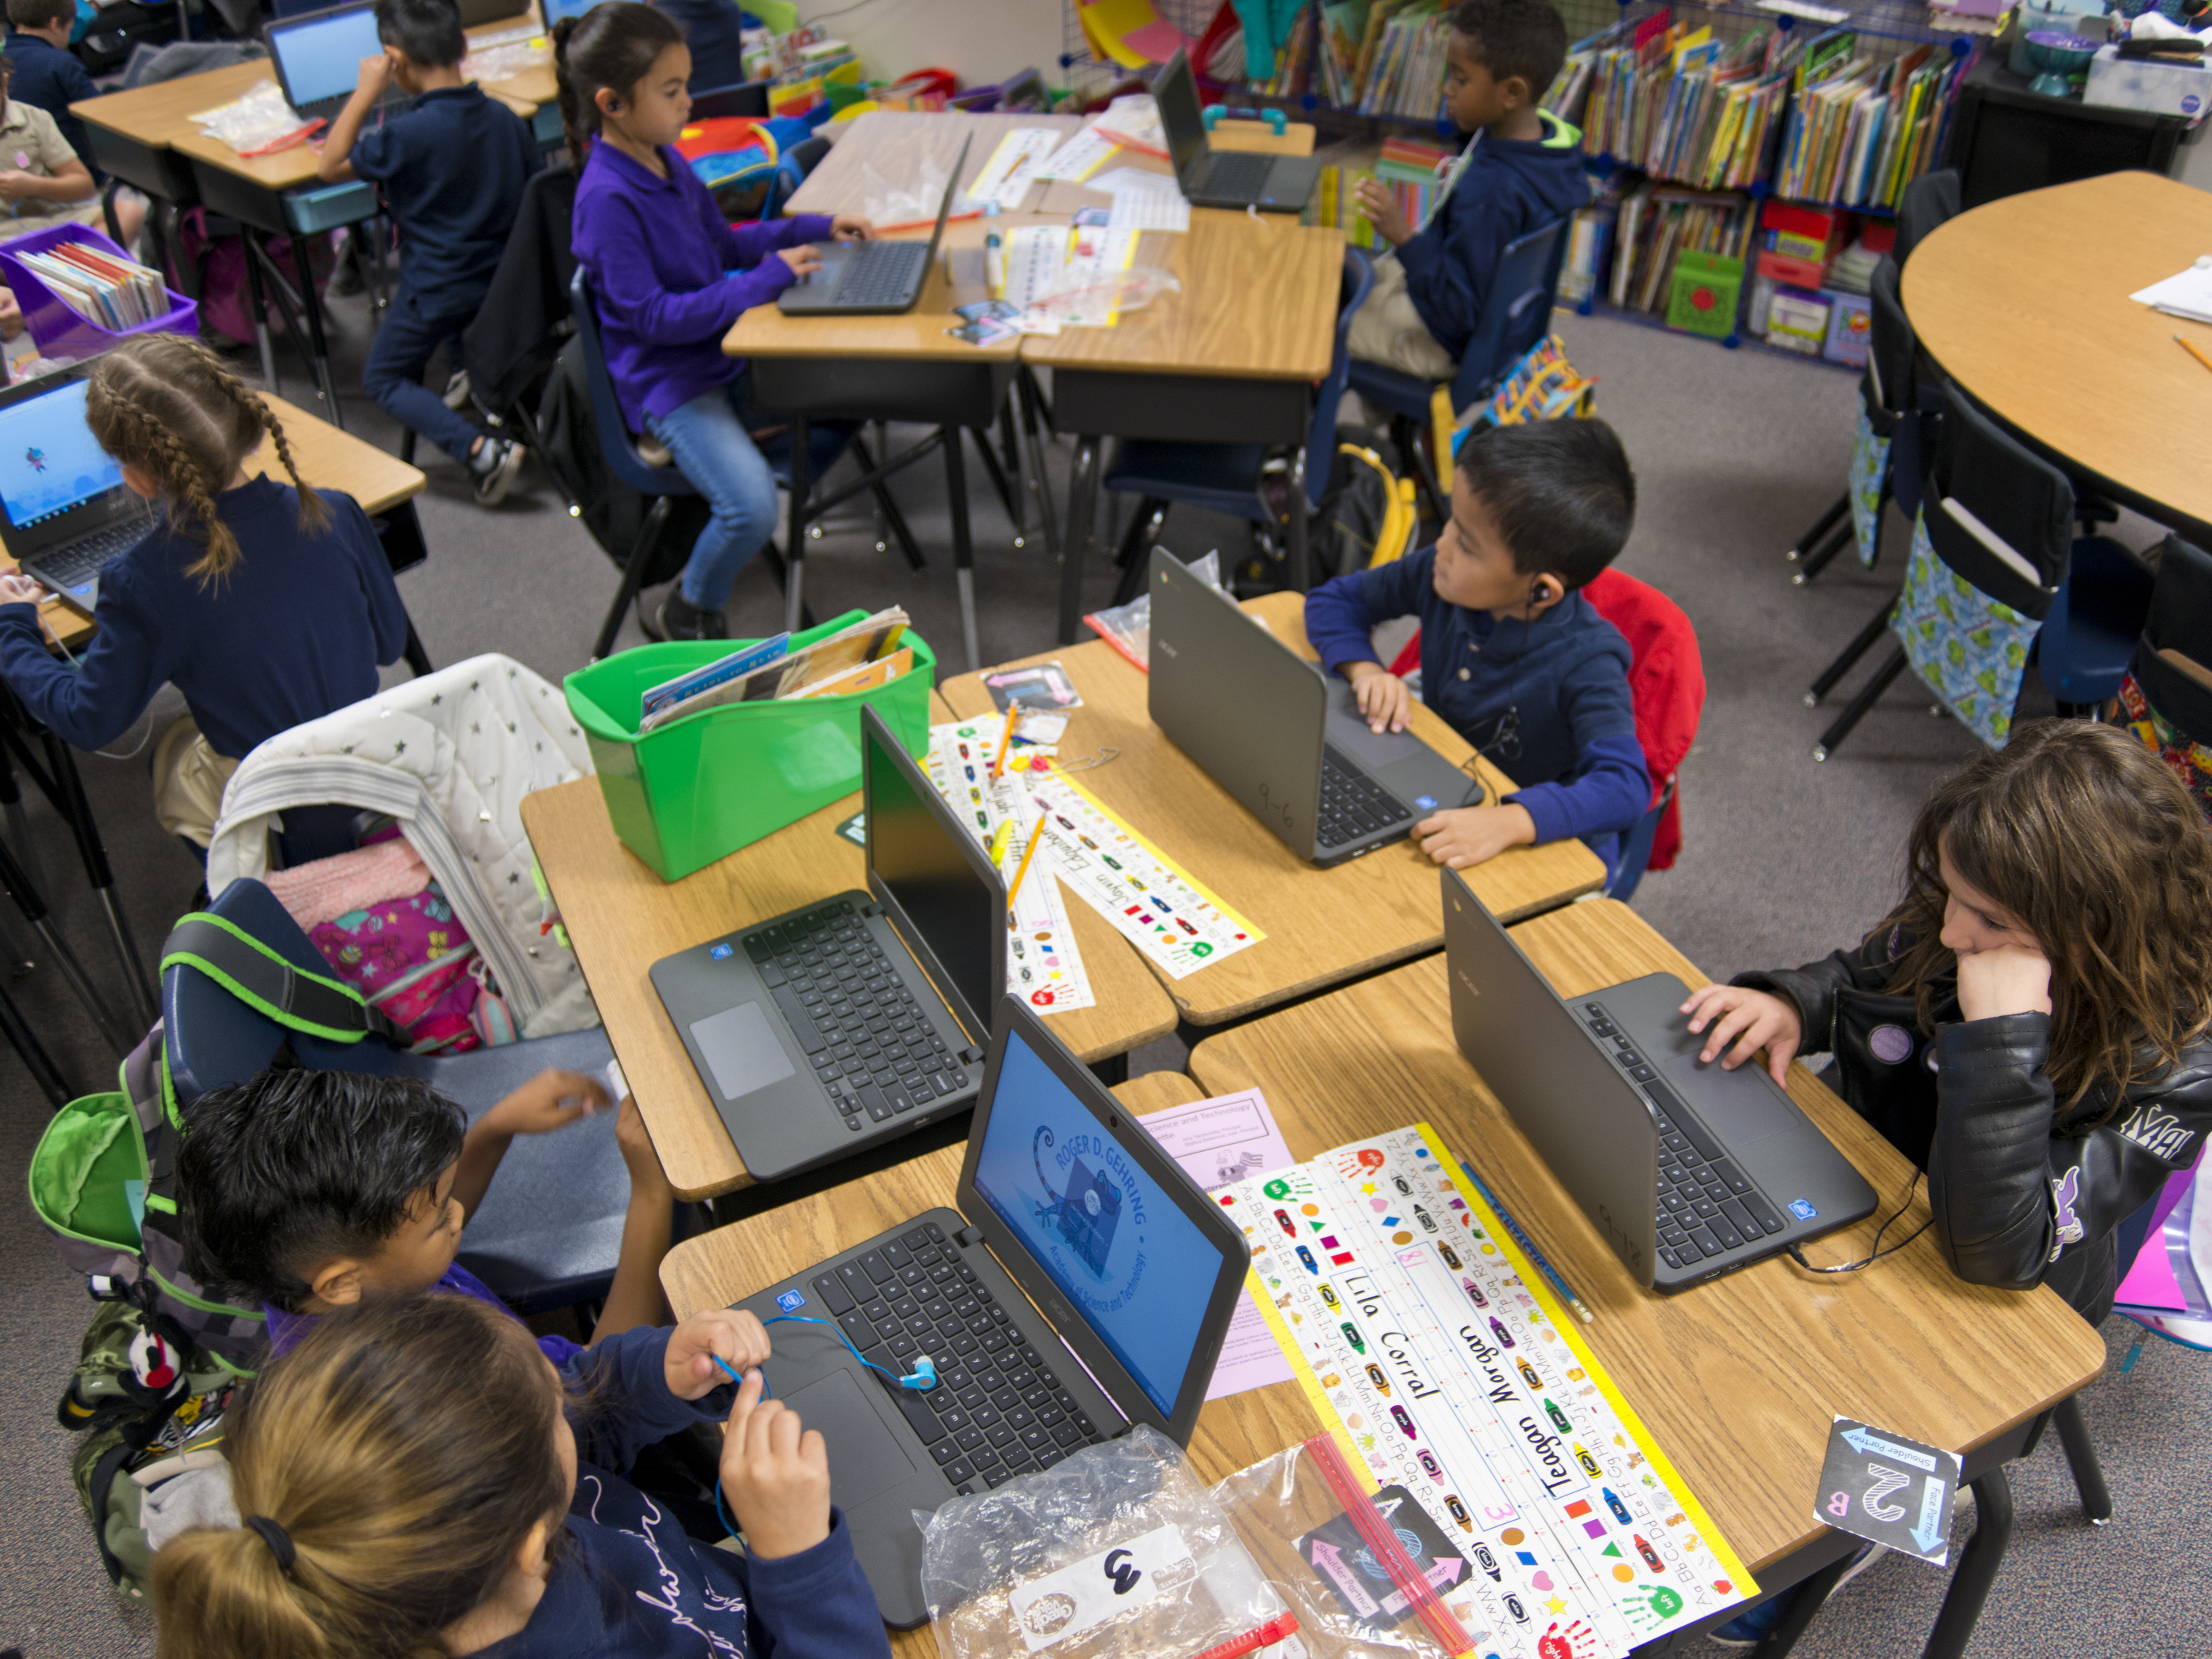
M1513 938L1564 995L1639 973L1705 982L1613 900L1568 905ZM1774 1256L1681 1296L1635 1285L1460 1057L1442 956L1208 1037L1190 1071L1208 1095L1263 1088L1301 1159L1433 1124L1597 1314L1582 1336L1754 1573L1818 1535L1812 1493L1834 1416L1969 1451L2104 1367L2097 1332L2053 1292L1969 1285L1933 1234L1847 1279L1814 1281ZM1911 1166L1803 1066L1790 1095L1874 1183L1887 1217ZM1905 1228L1922 1219L1924 1188ZM1860 1256L1874 1228L1816 1241L1807 1256Z

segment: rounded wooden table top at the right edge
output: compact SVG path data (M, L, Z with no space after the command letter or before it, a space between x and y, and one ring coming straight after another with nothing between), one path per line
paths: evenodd
M2212 252L2212 197L2106 173L1989 201L1933 230L1905 268L1920 345L2044 449L2212 524L2212 327L2128 294ZM2201 533L2201 531L2199 531Z

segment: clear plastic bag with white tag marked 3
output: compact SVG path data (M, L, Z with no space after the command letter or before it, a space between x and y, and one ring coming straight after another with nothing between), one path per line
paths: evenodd
M1197 1659L1287 1610L1183 1453L1144 1425L938 1509L922 1595L945 1659Z

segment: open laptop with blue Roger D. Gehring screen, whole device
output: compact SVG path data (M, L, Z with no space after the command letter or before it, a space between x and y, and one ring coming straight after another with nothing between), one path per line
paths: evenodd
M998 1002L953 1203L737 1303L790 1321L770 1325L768 1385L830 1442L830 1500L902 1630L929 1617L916 1511L1135 1422L1190 1444L1250 1261L1018 998ZM922 1356L936 1385L900 1387Z

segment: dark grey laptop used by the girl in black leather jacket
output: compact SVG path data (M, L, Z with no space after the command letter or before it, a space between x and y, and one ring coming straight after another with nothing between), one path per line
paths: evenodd
M1690 989L1646 973L1564 1002L1455 869L1451 1031L1641 1283L1690 1290L1874 1210L1874 1188L1756 1062L1699 1064Z

